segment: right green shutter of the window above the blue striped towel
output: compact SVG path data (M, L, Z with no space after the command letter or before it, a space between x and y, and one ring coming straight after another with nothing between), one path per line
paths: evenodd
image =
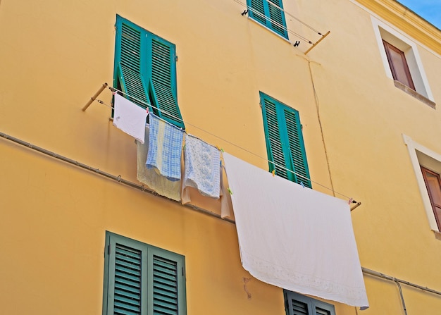
M176 91L175 45L151 35L151 93L154 112L173 125L184 128Z

